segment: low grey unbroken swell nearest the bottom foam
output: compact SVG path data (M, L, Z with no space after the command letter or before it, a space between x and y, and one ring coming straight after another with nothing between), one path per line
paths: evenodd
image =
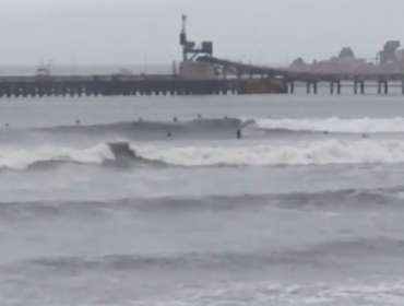
M247 251L182 251L178 254L106 254L100 256L43 256L17 260L21 268L57 269L59 272L72 271L140 271L156 269L171 273L178 271L251 271L269 270L281 266L299 266L299 268L326 267L330 260L334 264L346 264L341 257L349 256L348 262L357 264L358 256L367 258L385 258L404 255L403 239L397 238L348 238L342 240L325 240L307 246L290 246L280 250L252 248ZM342 263L344 262L344 263ZM380 269L382 270L382 268Z

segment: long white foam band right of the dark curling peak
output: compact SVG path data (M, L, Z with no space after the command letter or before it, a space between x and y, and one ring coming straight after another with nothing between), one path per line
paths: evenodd
M326 140L294 145L238 148L156 148L139 146L144 158L180 166L213 165L328 165L404 162L404 141Z

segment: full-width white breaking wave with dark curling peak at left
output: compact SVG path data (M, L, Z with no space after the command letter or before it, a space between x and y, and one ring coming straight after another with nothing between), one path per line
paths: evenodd
M87 149L51 148L0 150L0 168L25 169L38 164L165 164L171 166L293 166L394 164L404 162L404 141L326 140L289 145L156 146L128 142Z

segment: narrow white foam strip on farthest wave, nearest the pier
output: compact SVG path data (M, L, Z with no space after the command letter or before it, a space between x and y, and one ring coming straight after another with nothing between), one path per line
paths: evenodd
M285 129L293 131L329 131L347 133L404 132L404 118L357 118L341 119L258 119L262 129Z

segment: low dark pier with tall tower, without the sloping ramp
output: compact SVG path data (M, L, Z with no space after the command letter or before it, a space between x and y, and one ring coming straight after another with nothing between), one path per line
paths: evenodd
M173 63L170 74L132 74L121 70L107 75L54 75L43 66L33 76L0 75L0 97L287 93L282 80L221 75L217 64L198 60L212 57L213 43L202 42L197 46L188 40L186 26L187 16L182 15L179 35L182 61Z

